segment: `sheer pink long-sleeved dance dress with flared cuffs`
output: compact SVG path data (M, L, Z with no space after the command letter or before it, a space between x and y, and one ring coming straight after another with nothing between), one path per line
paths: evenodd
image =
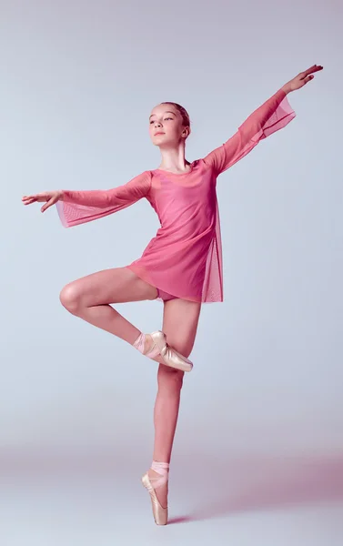
M105 217L146 197L160 225L127 268L161 292L191 301L223 301L217 177L263 138L296 116L282 89L259 106L221 147L193 161L186 174L146 170L108 190L64 190L57 210L65 227Z

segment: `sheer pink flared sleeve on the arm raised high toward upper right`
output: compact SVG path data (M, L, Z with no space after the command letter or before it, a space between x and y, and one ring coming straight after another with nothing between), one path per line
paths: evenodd
M287 126L295 116L296 113L281 88L247 117L234 136L203 159L218 176L239 159L247 156L260 140Z

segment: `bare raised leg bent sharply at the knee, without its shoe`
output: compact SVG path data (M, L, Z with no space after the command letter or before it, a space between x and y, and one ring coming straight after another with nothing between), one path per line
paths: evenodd
M156 295L156 288L138 278L129 268L113 268L67 284L61 291L60 300L76 317L132 345L140 330L109 304L155 299Z

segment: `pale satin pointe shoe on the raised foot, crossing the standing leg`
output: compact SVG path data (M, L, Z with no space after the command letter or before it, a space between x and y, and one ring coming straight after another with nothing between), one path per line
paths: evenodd
M181 369L182 371L191 371L193 368L193 363L188 360L186 357L177 352L176 349L169 347L166 343L166 334L161 330L156 330L149 334L153 339L152 348L144 353L146 357L154 359L156 357L161 357L162 363L166 364L170 368ZM143 338L142 338L143 336ZM142 339L144 339L144 334L141 334L138 339L136 339L134 346L138 349Z

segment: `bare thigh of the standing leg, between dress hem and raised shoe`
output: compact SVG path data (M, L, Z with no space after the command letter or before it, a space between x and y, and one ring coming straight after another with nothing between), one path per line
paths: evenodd
M163 327L167 343L188 357L197 335L201 303L175 298L164 302Z

